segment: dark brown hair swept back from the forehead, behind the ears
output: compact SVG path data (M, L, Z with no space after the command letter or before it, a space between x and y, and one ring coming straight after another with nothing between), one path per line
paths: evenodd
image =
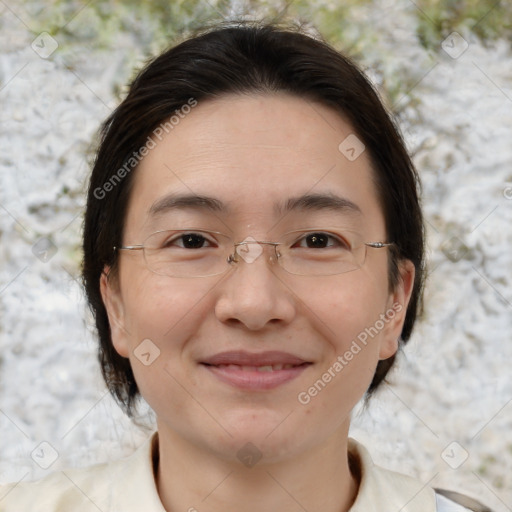
M103 377L129 416L133 415L139 391L129 360L121 357L112 344L100 277L107 265L108 278L117 278L118 256L113 247L122 245L136 172L133 157L153 130L168 122L191 98L201 102L233 93L275 92L315 101L338 112L366 146L387 238L395 243L389 257L390 289L400 279L400 260L412 261L416 269L401 342L406 343L411 335L421 310L424 279L419 179L400 132L377 92L349 58L298 29L242 22L210 28L171 47L139 72L124 101L102 125L90 177L82 281L98 331ZM128 163L133 170L129 170ZM395 356L379 361L367 399L394 361Z

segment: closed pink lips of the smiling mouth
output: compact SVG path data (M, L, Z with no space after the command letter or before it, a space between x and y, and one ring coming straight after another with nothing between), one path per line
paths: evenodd
M290 382L311 364L293 354L276 351L222 352L201 362L208 372L222 382L239 389L252 391L274 389ZM269 369L270 366L277 366L278 369ZM262 367L265 369L257 369Z

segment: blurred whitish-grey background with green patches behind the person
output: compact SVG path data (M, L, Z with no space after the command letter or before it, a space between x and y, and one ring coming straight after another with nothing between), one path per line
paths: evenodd
M87 176L137 70L236 17L352 56L422 178L425 313L351 435L381 465L512 510L510 0L0 1L0 481L127 455L151 430L100 377L79 282Z

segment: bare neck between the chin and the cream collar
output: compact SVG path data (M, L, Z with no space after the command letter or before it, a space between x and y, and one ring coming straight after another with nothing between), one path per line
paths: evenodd
M159 429L157 488L168 512L346 512L358 489L347 444L348 428L292 459L245 467Z

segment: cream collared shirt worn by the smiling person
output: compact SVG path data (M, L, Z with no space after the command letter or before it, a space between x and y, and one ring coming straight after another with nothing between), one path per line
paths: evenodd
M419 480L375 465L366 448L353 439L349 454L360 473L350 512L468 511ZM157 456L155 432L130 457L59 471L35 482L0 485L0 512L166 512L154 478Z

